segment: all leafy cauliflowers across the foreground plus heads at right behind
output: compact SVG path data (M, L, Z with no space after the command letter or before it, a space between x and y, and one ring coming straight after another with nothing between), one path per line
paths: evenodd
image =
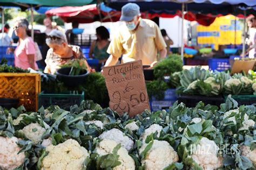
M221 88L214 77L204 82ZM86 101L75 111L0 107L0 169L255 169L255 107L228 100L220 109L180 103L132 118ZM233 144L239 153L227 155Z

